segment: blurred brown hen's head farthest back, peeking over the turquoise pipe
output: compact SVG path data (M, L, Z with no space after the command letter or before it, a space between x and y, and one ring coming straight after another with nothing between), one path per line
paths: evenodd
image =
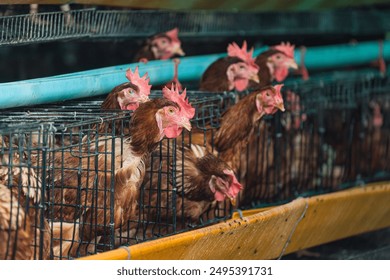
M159 33L148 38L135 55L134 61L166 60L175 55L185 55L181 48L178 34L179 29L174 28L165 33Z

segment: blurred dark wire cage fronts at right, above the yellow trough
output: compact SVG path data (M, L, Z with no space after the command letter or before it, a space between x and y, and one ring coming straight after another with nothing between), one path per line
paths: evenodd
M241 207L389 178L389 79L372 73L287 83L243 153Z

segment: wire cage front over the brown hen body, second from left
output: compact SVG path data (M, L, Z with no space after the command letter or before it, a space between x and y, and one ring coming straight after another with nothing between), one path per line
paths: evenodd
M115 121L95 120L57 133L61 144L51 154L47 211L54 258L113 248L113 239L97 244L114 232L115 163L124 145L124 139L116 137Z

